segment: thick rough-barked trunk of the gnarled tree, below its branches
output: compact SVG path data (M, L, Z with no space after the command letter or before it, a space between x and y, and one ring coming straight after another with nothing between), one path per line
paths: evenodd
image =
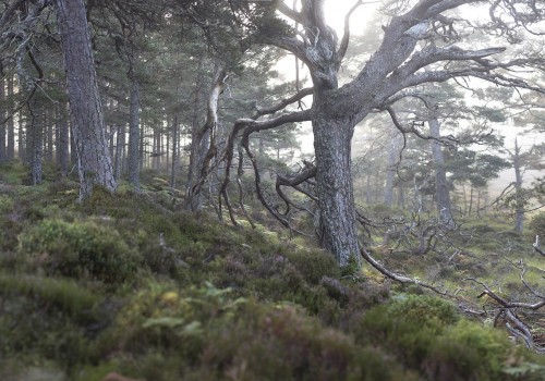
M340 266L351 257L360 262L351 174L350 121L330 120L327 113L313 119L320 245Z

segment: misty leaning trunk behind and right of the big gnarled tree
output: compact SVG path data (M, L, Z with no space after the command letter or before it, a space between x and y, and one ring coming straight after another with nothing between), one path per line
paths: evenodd
M440 138L440 124L437 119L432 119L428 122L429 135L436 139ZM432 160L435 167L435 198L437 202L437 211L443 223L451 224L452 207L450 204L450 193L448 189L447 172L445 171L445 158L443 156L441 145L435 140L431 140Z

